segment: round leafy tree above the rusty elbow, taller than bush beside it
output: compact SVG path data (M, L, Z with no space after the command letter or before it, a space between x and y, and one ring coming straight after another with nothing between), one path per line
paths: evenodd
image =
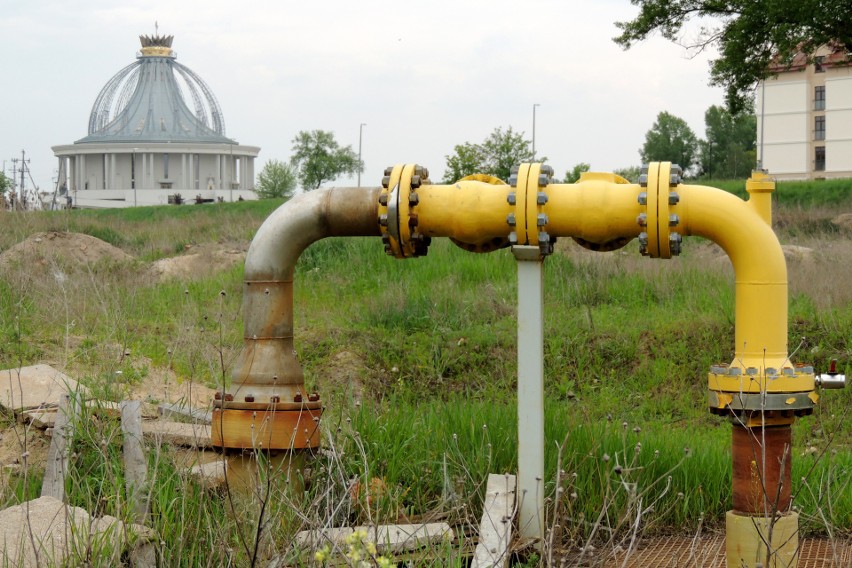
M364 171L364 163L352 146L341 147L334 133L325 130L302 130L293 138L290 163L296 169L299 184L305 190L317 189L324 182L343 174Z

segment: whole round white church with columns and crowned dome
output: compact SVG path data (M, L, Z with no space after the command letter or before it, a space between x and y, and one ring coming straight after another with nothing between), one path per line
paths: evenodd
M92 106L89 133L53 146L61 198L74 207L257 199L260 148L225 136L210 87L176 61L173 36L140 36L136 61Z

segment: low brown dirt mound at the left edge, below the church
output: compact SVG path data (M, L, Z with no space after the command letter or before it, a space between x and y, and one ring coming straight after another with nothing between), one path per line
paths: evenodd
M0 268L12 264L48 266L61 264L93 265L103 261L129 262L133 257L91 235L50 231L35 233L0 254Z

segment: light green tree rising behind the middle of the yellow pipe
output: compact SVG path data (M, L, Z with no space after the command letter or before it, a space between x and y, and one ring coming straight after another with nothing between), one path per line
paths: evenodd
M445 158L444 183L453 183L470 174L490 174L506 181L512 166L533 161L532 143L511 126L505 131L498 127L481 144L458 144L453 154ZM544 163L547 158L535 161Z

